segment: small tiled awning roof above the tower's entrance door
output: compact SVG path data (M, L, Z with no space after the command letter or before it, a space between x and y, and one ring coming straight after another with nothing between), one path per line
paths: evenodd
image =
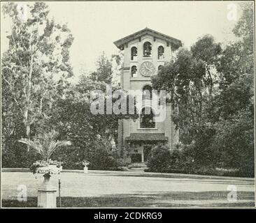
M167 141L168 137L164 133L131 133L126 137L127 141Z

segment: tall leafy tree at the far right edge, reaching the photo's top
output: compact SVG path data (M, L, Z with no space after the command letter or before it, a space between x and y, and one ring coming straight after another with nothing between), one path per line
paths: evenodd
M215 98L216 134L212 147L220 165L254 176L254 21L253 3L242 4L234 27L238 41L227 46L218 64L220 95Z

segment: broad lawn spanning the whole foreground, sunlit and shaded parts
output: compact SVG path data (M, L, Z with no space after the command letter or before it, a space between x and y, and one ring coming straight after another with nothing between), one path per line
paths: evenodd
M29 172L3 172L3 207L36 207L36 190L42 180ZM51 180L57 185L57 176ZM18 185L26 186L27 202L17 201ZM229 185L236 186L237 201L228 201ZM253 178L118 171L64 172L61 175L62 207L254 206L254 188Z

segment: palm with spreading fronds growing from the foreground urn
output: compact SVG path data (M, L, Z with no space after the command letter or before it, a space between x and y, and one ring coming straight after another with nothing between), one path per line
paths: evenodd
M38 135L38 138L31 139L20 139L19 141L23 144L27 144L29 148L33 149L36 153L39 153L43 160L49 162L50 156L57 148L62 146L70 146L71 141L56 141L58 133L55 131ZM28 149L29 149L28 148Z

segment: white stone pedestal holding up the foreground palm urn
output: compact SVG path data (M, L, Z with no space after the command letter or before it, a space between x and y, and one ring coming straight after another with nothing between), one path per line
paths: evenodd
M38 208L56 208L57 188L50 184L50 175L45 175L43 184L38 188Z

